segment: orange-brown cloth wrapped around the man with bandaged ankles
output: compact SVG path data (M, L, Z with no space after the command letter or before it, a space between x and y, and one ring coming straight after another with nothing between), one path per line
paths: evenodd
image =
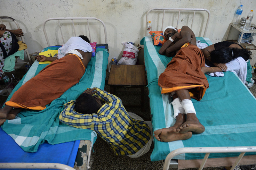
M159 76L161 93L188 89L193 94L192 98L201 100L209 87L207 78L201 71L204 66L205 58L196 45L190 44L181 48Z

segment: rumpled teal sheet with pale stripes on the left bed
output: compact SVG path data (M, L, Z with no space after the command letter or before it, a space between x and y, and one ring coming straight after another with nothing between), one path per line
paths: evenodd
M45 142L58 144L76 140L90 140L94 144L97 138L95 131L62 124L59 122L58 116L64 109L64 104L77 99L87 87L104 89L108 56L109 53L106 49L97 48L96 56L91 58L85 74L77 84L46 105L46 109L41 111L25 109L18 114L16 119L7 120L2 125L2 129L26 152L37 152L39 145ZM38 61L35 61L23 79L15 86L7 101L18 88L46 66L47 64L38 65Z

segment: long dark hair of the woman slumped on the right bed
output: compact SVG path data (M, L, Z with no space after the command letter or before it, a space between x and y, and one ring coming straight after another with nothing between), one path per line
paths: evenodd
M211 52L211 62L227 63L237 57L242 57L243 59L245 59L245 61L247 61L248 59L251 59L251 55L251 51L246 49L228 48L221 46L217 47Z

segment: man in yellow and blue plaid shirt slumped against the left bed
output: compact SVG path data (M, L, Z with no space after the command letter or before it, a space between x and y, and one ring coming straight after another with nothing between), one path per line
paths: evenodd
M99 88L88 88L65 106L59 115L61 122L96 131L116 155L137 158L149 151L153 140L151 122L127 113L117 96Z

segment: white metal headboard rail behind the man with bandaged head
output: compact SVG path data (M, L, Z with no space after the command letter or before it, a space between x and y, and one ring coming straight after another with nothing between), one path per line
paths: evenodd
M195 16L195 11L206 11L207 14L208 14L208 18L207 18L207 22L206 22L206 26L205 26L205 32L203 33L203 37L205 37L206 35L206 32L207 32L207 29L208 29L208 25L209 25L209 21L210 21L210 11L207 10L207 9L193 9L193 8L152 8L150 9L149 11L147 11L147 14L146 14L146 27L147 27L147 23L149 22L149 13L152 11L152 10L163 10L163 17L162 17L162 27L161 27L161 30L163 30L163 23L164 23L164 19L165 19L165 11L166 10L173 10L173 11L179 11L178 13L178 18L177 18L177 25L176 25L176 28L178 28L178 24L179 24L179 16L181 14L181 11L194 11L194 14L193 14L193 18L192 18L192 23L191 23L191 26L190 28L192 29L193 27L193 22L194 22L194 16ZM145 32L145 36L147 36L147 29L146 29L146 32Z

